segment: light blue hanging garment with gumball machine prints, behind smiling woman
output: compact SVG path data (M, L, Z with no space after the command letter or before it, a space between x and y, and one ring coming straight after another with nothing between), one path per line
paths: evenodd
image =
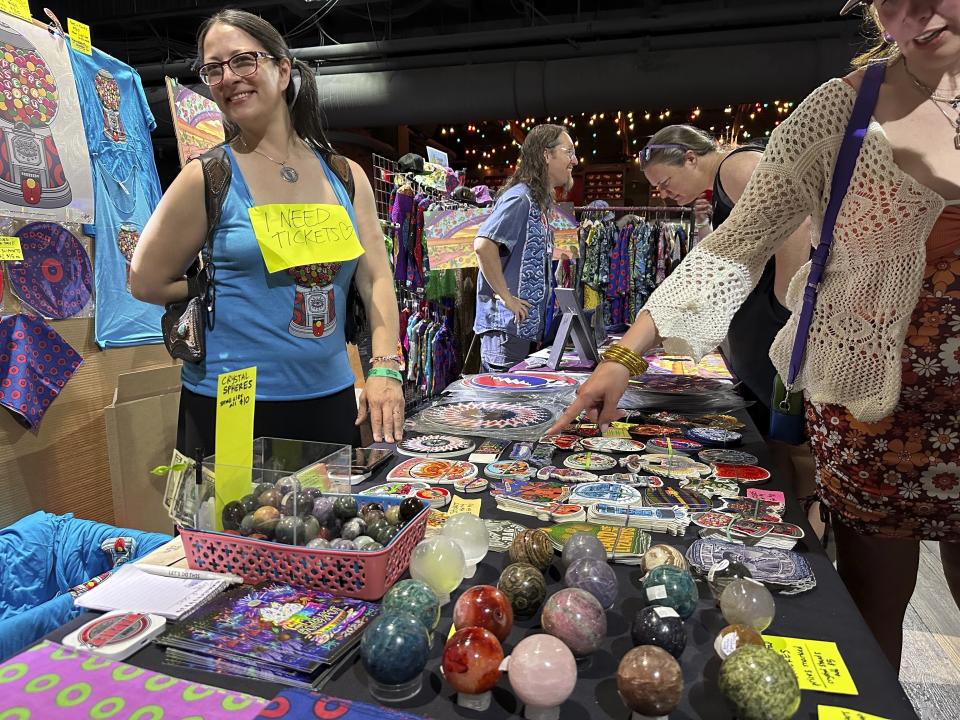
M160 202L160 178L150 132L150 112L140 76L97 49L71 48L83 126L90 148L96 224L84 231L96 242L94 336L101 347L159 343L163 308L130 294L130 260L147 219Z

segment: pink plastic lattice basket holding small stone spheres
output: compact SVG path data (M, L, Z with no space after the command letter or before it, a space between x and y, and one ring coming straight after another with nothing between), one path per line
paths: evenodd
M354 495L357 502L395 505L397 498ZM233 573L246 583L282 580L361 600L379 600L406 572L423 540L430 508L423 510L377 552L283 545L240 535L181 528L187 565L192 570Z

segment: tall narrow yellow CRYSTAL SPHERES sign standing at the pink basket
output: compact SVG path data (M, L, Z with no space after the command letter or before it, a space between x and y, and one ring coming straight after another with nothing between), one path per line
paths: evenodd
M253 408L257 396L255 367L217 377L216 483L217 529L223 506L250 492L253 476Z

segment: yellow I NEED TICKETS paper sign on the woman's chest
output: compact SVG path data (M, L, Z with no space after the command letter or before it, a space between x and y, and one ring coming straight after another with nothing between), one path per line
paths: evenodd
M270 272L312 263L346 262L363 255L363 246L342 205L259 205L249 213Z

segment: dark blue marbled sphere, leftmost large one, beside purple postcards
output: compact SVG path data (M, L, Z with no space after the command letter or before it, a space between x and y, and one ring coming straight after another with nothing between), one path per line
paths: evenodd
M360 658L367 673L384 685L400 685L423 672L430 655L430 636L408 613L384 612L360 639Z

